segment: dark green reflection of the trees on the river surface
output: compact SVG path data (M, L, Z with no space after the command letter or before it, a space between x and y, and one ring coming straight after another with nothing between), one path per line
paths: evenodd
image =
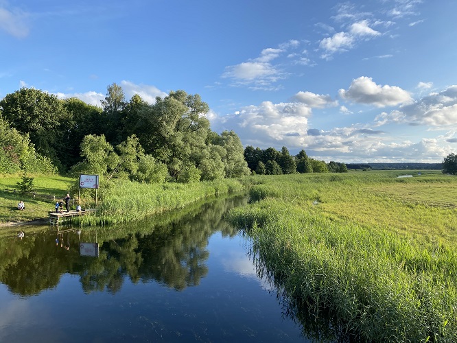
M198 285L208 272L209 237L216 230L236 235L222 218L244 203L244 198L214 200L130 226L83 228L80 235L67 229L2 239L0 282L23 296L56 287L67 273L80 276L84 292L118 292L126 277L132 283L156 281L177 290ZM80 241L99 242L99 257L81 257Z

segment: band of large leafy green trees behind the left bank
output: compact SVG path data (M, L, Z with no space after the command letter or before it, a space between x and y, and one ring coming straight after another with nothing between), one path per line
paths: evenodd
M213 132L200 95L172 91L148 104L117 84L102 106L21 88L0 101L0 172L100 174L192 182L250 171L233 131ZM8 167L10 165L10 167Z

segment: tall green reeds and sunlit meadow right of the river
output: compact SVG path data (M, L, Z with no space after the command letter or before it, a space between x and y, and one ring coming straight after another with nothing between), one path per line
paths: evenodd
M457 179L399 174L257 176L231 212L307 335L457 341Z

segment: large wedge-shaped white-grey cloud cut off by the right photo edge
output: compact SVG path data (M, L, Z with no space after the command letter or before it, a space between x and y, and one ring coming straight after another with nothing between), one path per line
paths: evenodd
M457 86L450 86L440 93L431 93L414 104L390 113L381 113L375 120L379 125L407 123L432 128L457 127Z

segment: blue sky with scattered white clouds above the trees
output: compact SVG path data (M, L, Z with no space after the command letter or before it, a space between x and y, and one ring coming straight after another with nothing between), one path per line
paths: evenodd
M457 1L0 0L0 99L182 89L244 146L344 163L457 152Z

